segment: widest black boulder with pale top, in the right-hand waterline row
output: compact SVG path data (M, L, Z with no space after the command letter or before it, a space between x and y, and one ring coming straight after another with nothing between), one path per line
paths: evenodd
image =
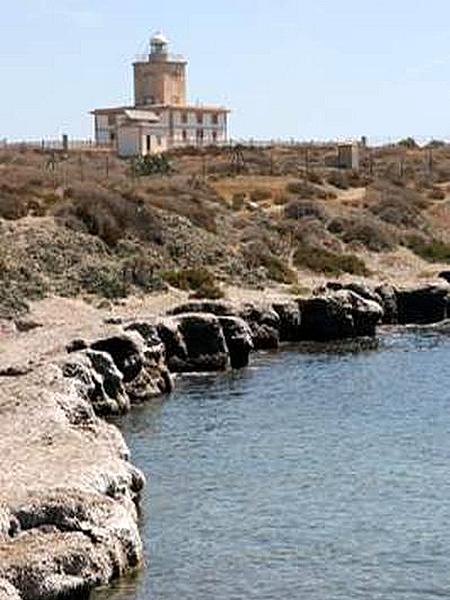
M299 306L302 314L301 338L304 340L373 336L383 316L383 309L378 303L349 290L299 300Z

